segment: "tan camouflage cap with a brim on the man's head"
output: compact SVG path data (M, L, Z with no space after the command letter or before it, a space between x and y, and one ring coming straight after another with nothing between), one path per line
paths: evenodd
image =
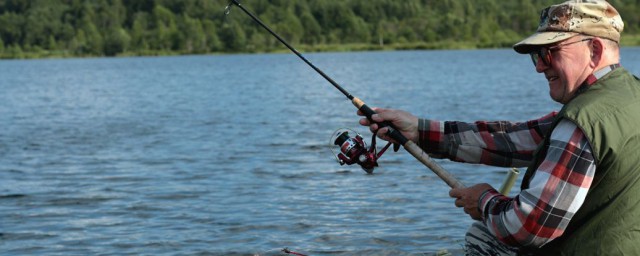
M513 46L518 53L530 53L583 34L620 42L624 23L618 11L602 0L573 0L552 5L540 12L540 24L533 35Z

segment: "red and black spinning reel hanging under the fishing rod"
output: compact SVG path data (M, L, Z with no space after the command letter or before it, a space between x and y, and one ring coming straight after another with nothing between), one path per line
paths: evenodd
M355 137L349 136L349 132L355 134ZM358 164L369 174L373 173L373 168L378 166L378 159L392 144L391 142L387 143L387 145L377 153L375 134L371 137L371 146L367 147L367 143L364 142L364 139L360 134L345 128L338 129L334 132L333 136L331 136L330 142L333 142L333 145L340 147L340 153L338 154L335 154L333 148L331 148L331 151L336 155L336 159L340 165Z

